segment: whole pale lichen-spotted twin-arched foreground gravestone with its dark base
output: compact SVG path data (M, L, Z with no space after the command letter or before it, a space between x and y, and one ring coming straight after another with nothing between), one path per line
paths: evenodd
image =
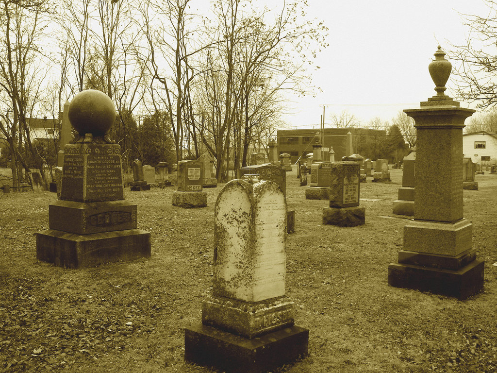
M286 201L270 181L232 180L214 208L214 276L202 325L185 329L185 360L229 372L266 372L306 355L285 296Z

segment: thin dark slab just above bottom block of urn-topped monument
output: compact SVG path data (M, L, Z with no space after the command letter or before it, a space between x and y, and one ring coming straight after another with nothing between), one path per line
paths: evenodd
M414 266L458 270L476 259L476 250L470 249L457 256L416 253L414 251L399 251L398 262Z

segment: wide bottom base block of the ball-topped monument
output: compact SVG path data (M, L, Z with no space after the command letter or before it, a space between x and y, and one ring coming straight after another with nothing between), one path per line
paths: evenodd
M78 235L55 229L36 233L36 258L59 267L85 268L150 257L150 233L141 229Z

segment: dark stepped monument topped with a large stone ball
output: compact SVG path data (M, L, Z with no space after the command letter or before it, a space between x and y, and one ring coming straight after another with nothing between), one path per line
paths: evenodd
M114 117L105 93L71 101L79 136L64 147L61 196L49 205L49 229L36 233L38 260L81 268L150 257L150 233L137 229L137 206L124 200L120 146L108 138Z

